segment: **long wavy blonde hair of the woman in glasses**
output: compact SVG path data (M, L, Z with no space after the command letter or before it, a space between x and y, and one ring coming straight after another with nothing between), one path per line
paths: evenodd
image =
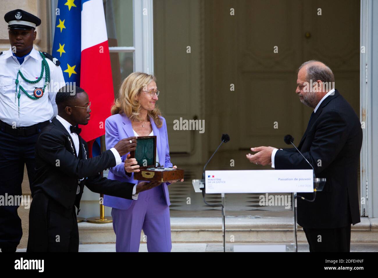
M154 75L149 75L143 72L133 72L127 76L122 85L119 88L118 98L114 100L114 104L111 108L112 115L124 113L131 121L133 120L144 120L140 117L141 105L136 99L136 96L140 90L145 90L146 86L151 82L156 81ZM157 127L163 125L163 121L159 116L161 112L157 106L152 111L147 112L147 116L153 118Z

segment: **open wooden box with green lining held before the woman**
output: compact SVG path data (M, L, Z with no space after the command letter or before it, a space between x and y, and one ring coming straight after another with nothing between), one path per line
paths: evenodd
M139 136L136 149L130 152L130 158L136 158L140 172L134 172L134 180L169 182L184 178L183 169L163 168L156 165L156 136Z

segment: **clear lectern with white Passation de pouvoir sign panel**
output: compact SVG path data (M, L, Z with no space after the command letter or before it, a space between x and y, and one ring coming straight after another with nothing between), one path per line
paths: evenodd
M321 191L325 179L314 177L313 170L232 170L205 171L205 179L193 180L196 192L205 190L207 194L222 194L223 219L223 248L225 248L225 193L292 193L292 207L294 214L294 248L285 245L234 245L234 252L297 252L297 192L314 193ZM299 196L298 196L299 197ZM293 249L293 250L291 250Z

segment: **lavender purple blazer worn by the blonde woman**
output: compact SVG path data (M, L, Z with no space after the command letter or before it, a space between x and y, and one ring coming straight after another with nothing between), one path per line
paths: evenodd
M172 167L170 163L169 156L169 146L168 146L168 134L167 134L167 124L166 120L161 117L163 120L163 125L158 128L150 117L150 122L152 126L153 135L156 135L156 148L159 156L159 163L162 167ZM131 125L130 119L124 114L112 115L105 121L105 144L106 149L111 149L119 142L119 140L134 136L133 127ZM137 143L138 144L138 143ZM122 162L125 161L127 154L121 157ZM124 163L116 165L115 167L110 168L108 179L119 180L121 182L130 182L138 183L137 180L134 180L134 173L131 177L128 177L125 174ZM169 183L168 183L169 184ZM170 205L169 202L169 192L167 183L163 183L164 196L167 202L167 205ZM128 200L124 198L114 197L104 195L104 205L107 207L118 208L120 210L127 210L132 202L138 200Z

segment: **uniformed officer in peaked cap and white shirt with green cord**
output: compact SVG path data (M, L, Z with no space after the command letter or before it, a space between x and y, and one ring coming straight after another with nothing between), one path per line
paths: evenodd
M55 96L65 82L60 62L33 48L41 20L21 9L6 13L4 19L11 48L0 52L0 196L15 197L22 195L25 164L32 184L37 137L57 115ZM0 204L2 252L14 252L20 243L18 207Z

